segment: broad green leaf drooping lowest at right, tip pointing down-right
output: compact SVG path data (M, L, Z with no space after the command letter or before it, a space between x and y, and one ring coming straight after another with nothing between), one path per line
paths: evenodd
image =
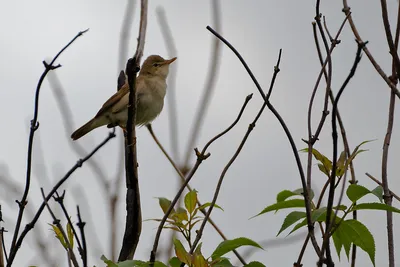
M343 234L347 235L352 243L367 252L375 266L375 240L368 228L361 222L353 219L342 222L340 228L342 228Z

